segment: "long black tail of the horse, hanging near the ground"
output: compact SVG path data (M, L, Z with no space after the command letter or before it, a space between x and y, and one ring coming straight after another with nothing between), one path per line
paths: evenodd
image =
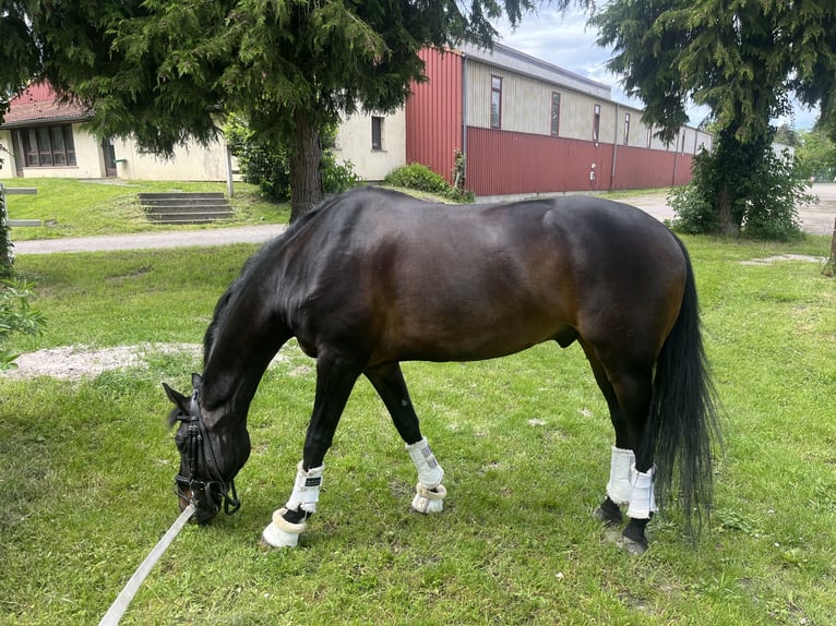
M717 402L703 348L700 306L691 260L682 242L688 277L673 329L662 346L654 377L654 406L644 445L654 450L659 503L673 499L679 475L690 530L707 521L713 496L713 443L720 443ZM694 527L693 521L696 521Z

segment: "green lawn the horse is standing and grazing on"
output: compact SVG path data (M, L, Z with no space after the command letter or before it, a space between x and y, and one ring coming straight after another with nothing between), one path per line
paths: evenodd
M241 511L187 527L124 624L825 625L836 614L836 282L790 245L688 238L724 404L713 530L676 510L630 557L590 513L611 428L581 350L404 366L446 470L446 509L409 511L415 470L358 384L297 550L260 545L289 494L313 398L294 345L253 401ZM12 347L199 342L253 246L22 255L46 334ZM177 455L159 386L195 357L82 382L0 377L0 624L97 623L177 516ZM534 420L534 421L530 421Z

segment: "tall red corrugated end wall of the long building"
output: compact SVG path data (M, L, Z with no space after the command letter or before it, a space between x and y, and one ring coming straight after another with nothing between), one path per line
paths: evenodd
M462 149L462 57L425 49L427 83L414 84L406 101L406 161L428 166L453 182L455 152Z

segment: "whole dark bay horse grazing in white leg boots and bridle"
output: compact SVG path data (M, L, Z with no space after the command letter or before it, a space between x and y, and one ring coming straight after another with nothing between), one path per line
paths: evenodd
M616 431L596 514L647 546L656 494L676 493L689 525L710 503L714 396L691 262L642 210L595 197L488 206L429 204L362 188L330 200L248 261L204 338L184 396L176 489L199 522L237 509L247 413L291 337L315 359L317 392L286 505L263 533L296 545L317 509L325 453L360 375L374 386L418 473L413 507L439 511L444 472L422 436L399 362L473 361L544 341L584 350Z

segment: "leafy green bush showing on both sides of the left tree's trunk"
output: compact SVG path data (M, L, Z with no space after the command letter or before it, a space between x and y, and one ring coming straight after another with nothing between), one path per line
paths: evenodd
M224 128L229 149L238 157L244 180L258 185L264 196L276 202L290 200L290 156L285 146L274 146L271 142L255 136L246 121L231 116ZM337 160L334 151L335 129L323 133L322 191L334 194L346 191L360 182L350 162Z

